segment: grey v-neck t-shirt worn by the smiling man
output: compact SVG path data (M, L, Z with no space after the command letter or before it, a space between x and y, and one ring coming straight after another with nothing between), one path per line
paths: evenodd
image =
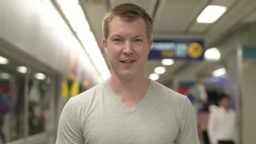
M56 144L200 144L187 96L150 80L129 109L107 81L72 97L62 110Z

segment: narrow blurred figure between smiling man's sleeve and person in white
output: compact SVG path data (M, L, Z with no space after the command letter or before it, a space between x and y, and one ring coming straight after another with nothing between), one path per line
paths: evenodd
M204 104L203 109L198 114L198 129L203 135L204 144L210 144L207 127L208 127L208 119L209 119L209 104Z

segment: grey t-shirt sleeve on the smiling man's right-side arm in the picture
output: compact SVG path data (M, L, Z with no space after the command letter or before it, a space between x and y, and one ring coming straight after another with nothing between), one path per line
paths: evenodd
M183 117L175 144L200 144L194 108L188 98L186 98Z

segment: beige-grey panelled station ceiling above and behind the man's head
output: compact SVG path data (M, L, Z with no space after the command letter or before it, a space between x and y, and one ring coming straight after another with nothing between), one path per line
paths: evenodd
M255 0L80 0L86 19L104 55L101 22L109 8L120 3L134 3L143 7L154 19L154 39L203 39L205 48L217 45L227 35L245 23L256 21ZM227 11L213 24L199 24L196 19L207 5L227 6ZM223 56L223 55L222 55ZM207 61L175 61L165 66L166 72L158 82L169 85L174 76L181 80L195 80L198 72L209 67ZM149 60L145 73L153 73L160 60ZM209 70L204 70L209 72Z

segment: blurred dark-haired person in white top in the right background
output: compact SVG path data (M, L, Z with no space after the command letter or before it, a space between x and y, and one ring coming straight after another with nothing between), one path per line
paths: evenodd
M225 94L219 100L219 107L210 113L208 134L211 144L235 144L236 116L229 108L229 96Z

